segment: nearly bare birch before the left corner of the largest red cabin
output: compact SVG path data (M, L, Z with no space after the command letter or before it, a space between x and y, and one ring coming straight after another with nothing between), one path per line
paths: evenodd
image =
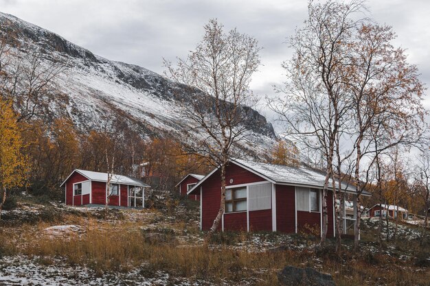
M165 60L166 75L188 88L181 99L183 116L199 138L190 138L185 147L200 154L220 168L220 208L210 228L218 228L225 211L225 171L231 158L240 156L238 143L247 140L253 126L250 107L255 98L249 89L251 76L260 65L260 47L256 39L236 29L224 32L223 25L212 19L205 25L205 35L187 58L172 65Z

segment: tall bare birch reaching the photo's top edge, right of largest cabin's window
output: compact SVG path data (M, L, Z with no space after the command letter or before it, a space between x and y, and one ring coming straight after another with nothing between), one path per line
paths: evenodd
M345 82L350 64L347 53L351 35L361 21L352 20L351 15L363 9L361 1L309 1L308 19L290 40L293 59L283 64L289 79L282 90L285 97L280 102L269 102L280 120L286 122L290 136L324 155L321 245L328 230L327 193L333 177L336 139L342 129L348 128L346 117L351 102Z

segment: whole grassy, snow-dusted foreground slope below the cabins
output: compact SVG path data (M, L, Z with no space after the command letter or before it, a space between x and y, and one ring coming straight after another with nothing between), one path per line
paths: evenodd
M337 285L429 285L430 241L402 226L378 251L375 222L362 249L341 254L313 235L216 233L205 243L198 204L104 210L18 202L0 224L0 285L277 285L286 265L332 274ZM55 227L52 227L55 226ZM427 251L427 252L426 252Z

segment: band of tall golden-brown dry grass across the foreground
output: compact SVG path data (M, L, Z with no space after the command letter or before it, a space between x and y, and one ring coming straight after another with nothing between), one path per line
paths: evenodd
M255 253L231 247L238 242L247 243L250 239L247 233L215 235L210 246L192 241L180 244L170 239L175 233L183 234L186 230L200 235L195 226L181 221L170 226L161 224L166 227L163 229L170 242L150 242L146 239L148 232L142 227L146 228L158 215L148 212L148 222L69 215L61 221L0 227L0 255L25 254L38 257L38 263L44 265L62 258L70 265L87 265L100 274L128 272L138 267L142 275L151 276L163 270L191 281L209 279L214 284L249 281L253 285L277 285L278 271L286 265L296 265L330 273L339 286L430 285L429 268L416 267L414 261L401 261L386 254L345 251L335 255L330 249ZM67 237L50 237L43 230L55 224L77 224L84 226L84 230Z

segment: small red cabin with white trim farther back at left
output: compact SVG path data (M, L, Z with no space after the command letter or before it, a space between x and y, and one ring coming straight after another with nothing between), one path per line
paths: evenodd
M61 184L65 186L65 203L69 206L101 206L109 195L110 206L143 208L148 184L135 178L115 175L106 191L108 174L75 169Z

